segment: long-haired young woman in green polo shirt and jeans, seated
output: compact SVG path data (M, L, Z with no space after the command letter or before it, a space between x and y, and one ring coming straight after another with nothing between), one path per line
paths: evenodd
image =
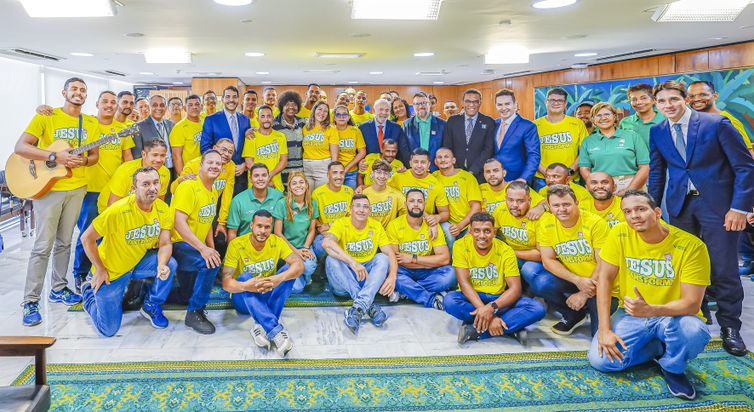
M294 171L288 175L288 193L272 211L275 218L275 235L281 237L304 261L304 273L293 283L292 293L301 293L311 283L317 268L317 258L309 249L314 241L315 221L319 211L312 200L312 191L304 172Z

